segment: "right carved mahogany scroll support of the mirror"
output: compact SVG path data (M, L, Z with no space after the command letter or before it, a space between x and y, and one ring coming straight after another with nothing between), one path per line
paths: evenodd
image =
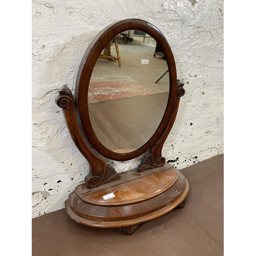
M177 88L176 88L176 99L174 103L173 112L170 115L169 122L165 127L165 130L162 136L158 139L158 141L151 147L150 152L148 152L142 159L140 164L138 165L139 172L144 172L147 169L153 169L161 167L165 164L165 158L162 157L162 148L165 140L168 137L170 130L174 125L174 121L178 112L180 97L185 94L185 90L183 89L184 83L181 80L177 80Z

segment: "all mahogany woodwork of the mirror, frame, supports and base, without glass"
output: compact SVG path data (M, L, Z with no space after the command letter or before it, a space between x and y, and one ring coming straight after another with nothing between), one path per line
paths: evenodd
M162 121L153 136L132 152L117 152L103 146L94 133L88 110L88 90L100 54L113 38L127 30L145 32L161 47L169 72L169 97ZM111 24L95 37L80 63L75 96L65 85L58 90L56 98L70 135L90 166L84 184L78 185L65 202L68 215L74 221L93 227L120 228L130 235L139 224L158 218L175 207L184 207L188 182L162 157L162 147L173 127L180 97L185 93L183 86L184 83L177 80L173 52L154 25L145 20L125 19ZM99 154L93 153L91 147ZM123 173L117 173L101 158L126 161L143 154L137 168Z

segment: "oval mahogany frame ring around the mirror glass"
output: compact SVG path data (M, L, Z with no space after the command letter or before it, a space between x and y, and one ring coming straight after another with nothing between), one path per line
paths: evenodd
M151 35L162 48L169 71L169 97L162 121L153 136L136 151L120 154L111 151L104 145L102 145L94 133L88 110L88 90L91 75L100 53L115 36L126 30L140 30L142 32L145 32L148 35ZM91 45L89 46L82 58L78 70L75 98L76 108L84 134L86 135L91 145L95 148L95 150L106 158L116 161L126 161L142 155L149 148L151 148L161 136L163 136L162 140L164 142L170 132L170 129L172 129L172 120L175 120L176 117L176 114L174 112L174 104L177 100L176 85L177 73L173 52L170 49L168 41L159 31L159 29L157 29L152 24L146 22L145 20L140 19L125 19L111 24L110 26L103 29L91 42Z

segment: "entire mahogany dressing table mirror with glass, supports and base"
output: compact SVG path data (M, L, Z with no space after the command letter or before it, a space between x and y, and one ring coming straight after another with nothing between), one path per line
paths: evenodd
M156 47L162 55L155 54ZM56 98L90 166L65 202L71 219L131 235L139 224L184 207L188 182L161 155L183 85L172 50L154 25L125 19L95 37L81 60L74 96L65 85ZM143 157L137 168L118 173L102 156Z

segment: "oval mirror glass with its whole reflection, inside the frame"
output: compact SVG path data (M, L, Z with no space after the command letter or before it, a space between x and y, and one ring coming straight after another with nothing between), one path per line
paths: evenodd
M111 151L129 153L156 132L169 95L169 73L161 48L143 31L124 31L100 54L89 85L94 133Z

